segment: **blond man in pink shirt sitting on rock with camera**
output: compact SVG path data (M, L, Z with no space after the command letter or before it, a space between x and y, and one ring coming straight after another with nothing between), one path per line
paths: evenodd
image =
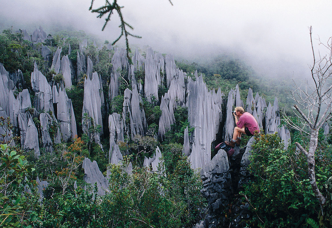
M255 117L250 113L244 112L242 107L236 107L233 115L236 122L233 139L230 142L225 141L225 144L231 147L234 147L235 143L238 146L240 145L242 133L248 136L253 136L255 131L259 132L258 122ZM239 120L237 120L237 117L239 117Z

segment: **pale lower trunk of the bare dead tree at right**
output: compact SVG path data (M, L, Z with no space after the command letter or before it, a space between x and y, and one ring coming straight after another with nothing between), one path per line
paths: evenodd
M312 191L314 192L315 197L318 199L318 202L322 207L326 203L326 198L319 191L315 177L315 151L318 143L318 131L319 129L311 131L309 150L307 154L307 162L308 162L308 176L312 187Z

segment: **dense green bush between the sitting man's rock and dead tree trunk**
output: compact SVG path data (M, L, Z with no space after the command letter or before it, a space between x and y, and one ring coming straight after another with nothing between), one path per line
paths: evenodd
M255 139L249 158L255 179L242 192L257 215L249 221L251 226L299 227L307 217L317 218L320 207L309 182L306 157L294 145L284 150L277 134L260 134ZM316 157L320 189L331 175L331 157Z

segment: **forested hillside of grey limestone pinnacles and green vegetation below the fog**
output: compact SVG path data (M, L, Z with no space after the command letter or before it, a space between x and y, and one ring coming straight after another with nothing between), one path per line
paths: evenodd
M308 137L283 120L300 125L289 80L223 55L129 57L84 31L0 34L0 226L330 226L329 125L315 160L323 209L294 145ZM236 106L261 132L228 157L214 147Z

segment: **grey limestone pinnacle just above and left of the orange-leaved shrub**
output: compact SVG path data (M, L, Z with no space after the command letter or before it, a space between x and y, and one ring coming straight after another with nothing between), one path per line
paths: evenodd
M61 138L63 141L73 139L77 135L76 120L71 99L68 99L66 91L59 90L59 102L57 104L57 117L60 124Z

